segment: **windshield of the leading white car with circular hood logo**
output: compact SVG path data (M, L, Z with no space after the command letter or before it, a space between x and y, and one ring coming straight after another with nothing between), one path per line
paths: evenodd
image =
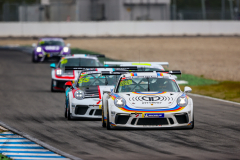
M122 78L117 92L179 92L175 80L165 78Z

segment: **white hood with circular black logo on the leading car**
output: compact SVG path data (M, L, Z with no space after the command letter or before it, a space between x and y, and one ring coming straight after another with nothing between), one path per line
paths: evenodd
M127 101L127 105L136 108L166 108L176 104L181 92L125 92L119 93Z

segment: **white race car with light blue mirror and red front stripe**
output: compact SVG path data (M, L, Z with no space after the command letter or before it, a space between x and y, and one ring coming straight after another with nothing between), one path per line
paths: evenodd
M68 81L74 81L78 78L77 70L64 70L65 66L102 66L99 62L98 56L74 54L72 56L63 57L58 65L52 63L52 81L51 91L64 91L64 84Z

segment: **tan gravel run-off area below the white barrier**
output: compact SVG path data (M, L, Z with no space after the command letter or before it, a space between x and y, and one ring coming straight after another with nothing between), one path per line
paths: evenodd
M0 45L31 45L32 39L1 39ZM124 61L169 62L168 69L214 80L240 81L240 37L70 38L73 48Z

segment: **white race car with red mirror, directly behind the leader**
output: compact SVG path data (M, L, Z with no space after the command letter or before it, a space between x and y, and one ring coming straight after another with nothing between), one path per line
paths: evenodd
M71 68L71 67L70 67ZM77 69L74 68L73 69ZM81 69L81 68L80 68ZM65 117L74 118L101 118L103 90L110 91L116 85L119 74L111 74L113 68L96 68L94 71L85 70L79 75L74 84L67 82ZM126 70L121 70L125 71ZM102 75L102 72L107 74Z

